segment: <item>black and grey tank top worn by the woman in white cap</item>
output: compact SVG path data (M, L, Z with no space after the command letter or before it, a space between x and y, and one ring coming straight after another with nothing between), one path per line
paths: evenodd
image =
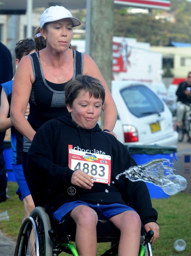
M46 121L59 116L71 117L65 104L66 83L55 84L45 79L39 52L29 55L33 69L34 83L32 84L31 95L29 99L30 114L28 121L32 128L37 131ZM83 53L73 50L73 77L83 74ZM28 152L31 143L23 137L23 151Z

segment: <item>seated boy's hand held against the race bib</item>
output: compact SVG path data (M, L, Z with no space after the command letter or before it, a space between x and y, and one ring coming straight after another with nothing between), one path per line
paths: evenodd
M85 188L85 189L91 189L93 187L93 176L88 175L81 170L76 170L72 174L71 183L73 185Z

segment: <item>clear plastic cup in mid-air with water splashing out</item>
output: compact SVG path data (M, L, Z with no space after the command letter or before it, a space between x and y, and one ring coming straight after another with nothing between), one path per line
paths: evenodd
M121 172L115 178L119 179L121 175L125 175L131 181L142 180L153 183L164 190L167 195L176 195L178 192L185 190L187 180L175 175L168 159L154 159L145 164L131 166L128 170Z

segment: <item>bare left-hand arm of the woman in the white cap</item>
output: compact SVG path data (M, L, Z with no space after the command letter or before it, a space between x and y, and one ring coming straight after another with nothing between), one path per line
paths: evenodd
M29 141L33 140L35 131L25 118L25 112L33 83L33 71L29 56L24 57L16 70L11 98L11 123Z

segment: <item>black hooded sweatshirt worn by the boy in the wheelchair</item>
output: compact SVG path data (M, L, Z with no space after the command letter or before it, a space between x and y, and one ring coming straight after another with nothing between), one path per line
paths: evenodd
M110 155L110 186L94 182L89 190L71 184L74 171L68 167L68 145L88 153ZM60 117L46 122L36 132L28 152L25 177L35 206L55 210L76 200L91 204L120 203L135 209L144 225L156 222L158 214L152 208L145 182L132 182L125 175L115 179L116 175L134 165L136 163L126 147L113 135L101 131L98 124L85 130L70 118ZM70 187L75 188L75 194L68 193Z

